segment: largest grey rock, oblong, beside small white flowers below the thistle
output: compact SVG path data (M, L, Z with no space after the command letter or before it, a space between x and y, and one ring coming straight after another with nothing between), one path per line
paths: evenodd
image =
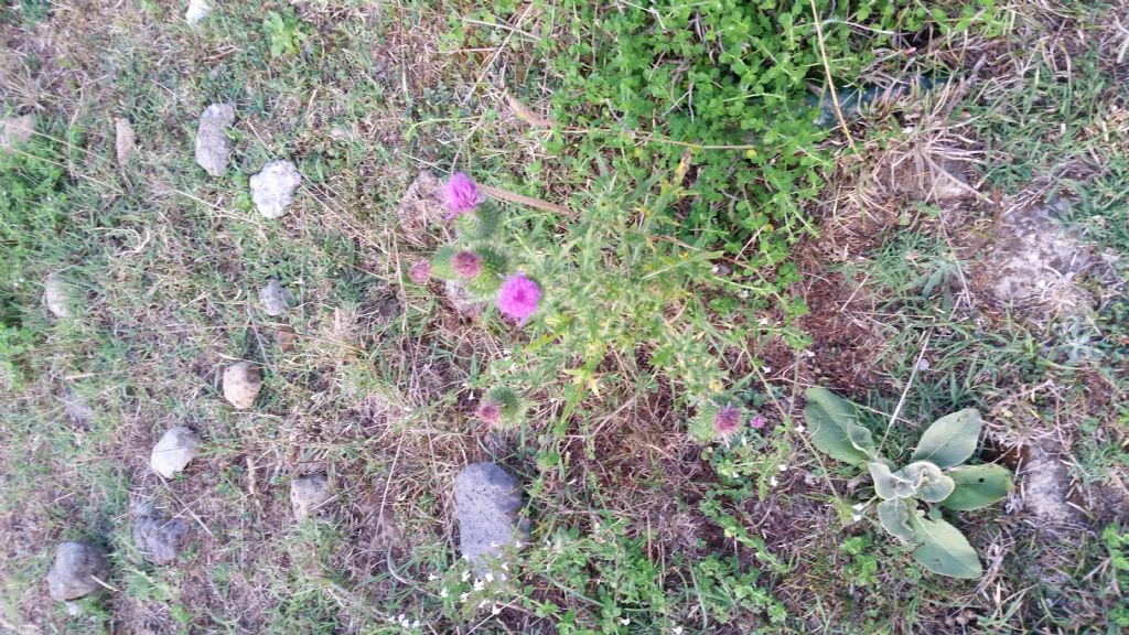
M479 565L501 556L507 547L520 547L528 537L517 479L493 463L472 463L455 477L460 549Z

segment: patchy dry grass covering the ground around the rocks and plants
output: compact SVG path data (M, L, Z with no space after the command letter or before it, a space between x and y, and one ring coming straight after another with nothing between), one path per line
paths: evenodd
M560 366L531 371L544 389L534 397L545 399L535 399L528 423L482 428L472 417L476 399L499 368L516 364L523 342L493 318L454 318L434 289L405 282L410 264L448 238L445 229L399 229L397 202L421 168L444 172L476 157L499 185L599 211L599 200L586 198L597 188L585 166L598 149L550 151L543 132L500 105L510 86L535 111L548 102L553 78L541 64L554 50L530 34L575 26L555 3L495 2L478 7L473 23L430 2L228 3L199 31L151 2L128 11L24 7L0 14L12 43L0 54L0 108L34 110L42 133L23 154L0 154L5 191L30 188L5 208L0 269L6 627L1123 627L1124 572L1111 564L1119 547L1103 538L1105 528L1123 531L1115 517L1129 417L1123 287L1095 276L1086 282L1092 312L1048 316L1003 308L972 279L996 228L996 189L1012 202L1067 197L1075 205L1065 220L1086 244L1122 261L1129 253L1118 151L1129 130L1111 114L1126 106L1110 53L1119 36L1094 17L1099 9L1056 17L1005 7L1014 28L966 42L989 58L979 76L963 63L961 90L865 113L852 122L860 155L831 139L839 168L821 205L808 203L821 236L793 247L799 275L790 288L806 302L798 325L814 357L755 333L723 349L738 377L734 393L770 421L747 444L725 449L686 437L677 390L639 359L593 366L598 394L571 390ZM1058 20L1069 20L1062 34L1082 35L1049 40L1044 31L1060 32L1043 27ZM50 36L38 49L23 31L33 21ZM1058 46L1077 53L1069 67ZM957 50L956 40L939 37L929 55ZM220 99L238 107L236 151L228 173L209 179L194 165L192 139L199 113ZM114 116L131 119L140 139L126 167L113 160ZM971 183L988 201L913 203L892 193L883 166L926 150L980 157ZM277 157L295 160L305 184L290 214L268 223L252 208L247 180ZM543 234L524 249L548 253L541 243L552 243L561 220L513 211ZM598 252L588 255L599 264ZM43 311L50 273L69 285L72 318ZM257 310L270 277L300 303L281 318ZM709 306L711 320L739 315ZM779 319L773 334L788 331L782 313L769 315ZM720 323L755 331L752 321ZM220 395L222 368L237 359L265 371L250 411ZM924 574L870 519L843 516L837 502L854 502L859 484L791 432L802 407L795 395L812 383L865 403L877 433L903 401L891 447L969 406L990 424L986 460L1015 467L1021 447L1056 438L1086 514L1048 531L1017 496L963 514L986 577ZM68 399L93 416L68 414ZM199 430L205 449L164 482L147 460L172 425ZM502 463L522 480L534 522L511 580L482 590L464 579L450 499L454 473L474 460ZM296 524L289 479L310 469L327 470L339 497L327 521ZM130 533L138 501L190 520L177 565L140 558ZM45 600L42 580L54 545L76 538L111 548L115 591L81 600L70 615Z

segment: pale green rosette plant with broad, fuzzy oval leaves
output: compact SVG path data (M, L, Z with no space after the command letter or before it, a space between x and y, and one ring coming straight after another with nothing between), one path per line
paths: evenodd
M877 515L887 533L913 546L913 559L952 577L979 577L983 571L975 549L940 515L979 510L1012 490L1012 472L1001 466L963 466L977 449L982 421L968 408L929 426L910 462L899 468L884 458L870 430L859 423L858 407L829 390L807 391L804 418L812 444L832 459L866 468L881 502ZM927 514L921 505L929 506Z

